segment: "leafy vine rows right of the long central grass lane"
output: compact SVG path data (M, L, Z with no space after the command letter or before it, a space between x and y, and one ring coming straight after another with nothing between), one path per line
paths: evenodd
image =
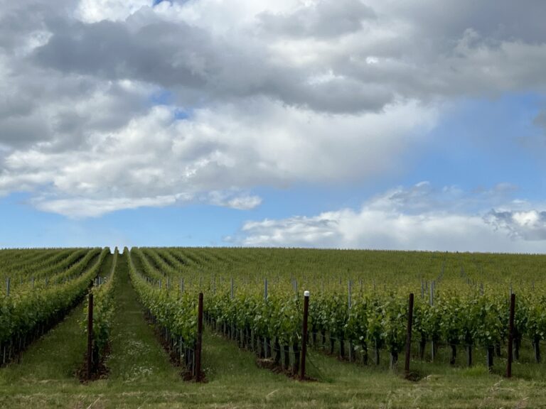
M515 359L530 361L532 350L540 363L546 337L544 256L304 249L133 249L131 255L141 282L155 288L154 302L144 304L156 306L171 344L173 336L195 338L195 301L203 292L211 327L293 373L304 290L311 293L311 344L360 364L381 364L381 351L391 368L397 364L410 293L417 359L471 366L484 356L493 370L494 357L506 353L511 293L518 293Z

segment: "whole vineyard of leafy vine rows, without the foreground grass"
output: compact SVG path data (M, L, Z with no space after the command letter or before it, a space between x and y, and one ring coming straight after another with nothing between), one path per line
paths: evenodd
M127 359L117 358L116 349L126 348L135 361L146 359L144 349L134 355L141 339L124 328L134 320L170 361L171 369L164 370L178 373L185 388L192 384L185 380L210 382L218 371L232 368L229 357L215 358L213 345L250 354L255 371L293 383L290 390L335 382L327 374L330 367L367 376L372 371L410 386L434 373L483 369L489 382L505 374L509 352L515 378L544 382L545 267L546 256L489 253L2 250L0 375L23 368L33 345L70 322L75 311L70 339L80 342L81 350L74 352L70 377L87 386L116 378L117 365L125 368ZM306 334L304 291L309 291ZM125 317L124 297L142 313ZM404 379L407 356L412 381ZM312 382L298 383L291 378L301 373L304 359L305 379ZM127 369L119 376L127 382Z

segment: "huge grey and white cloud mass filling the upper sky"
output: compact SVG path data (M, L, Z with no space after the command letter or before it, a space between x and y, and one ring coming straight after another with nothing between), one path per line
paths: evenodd
M403 166L454 97L546 87L544 1L156 3L0 0L0 194L250 209Z

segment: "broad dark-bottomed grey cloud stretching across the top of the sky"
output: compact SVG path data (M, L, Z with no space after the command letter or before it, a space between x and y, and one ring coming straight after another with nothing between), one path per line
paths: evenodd
M546 10L531 3L83 0L75 16L97 16L44 23L50 38L34 60L161 84L181 104L262 95L319 111L380 110L400 98L544 91L536 15Z

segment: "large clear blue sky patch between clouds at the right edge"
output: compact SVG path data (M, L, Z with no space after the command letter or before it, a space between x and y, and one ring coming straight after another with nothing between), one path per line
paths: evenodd
M532 122L543 102L532 94L458 102L432 131L434 142L417 153L418 163L402 184L429 180L473 190L506 182L528 199L542 199L543 156L521 138L542 138L544 130Z

